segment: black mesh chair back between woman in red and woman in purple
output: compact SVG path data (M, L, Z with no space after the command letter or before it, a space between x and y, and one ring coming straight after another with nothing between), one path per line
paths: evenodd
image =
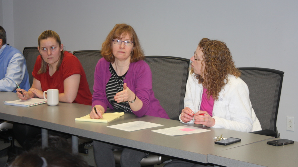
M100 58L102 58L98 50L74 51L73 54L80 60L86 73L87 82L91 94L93 94L94 70Z

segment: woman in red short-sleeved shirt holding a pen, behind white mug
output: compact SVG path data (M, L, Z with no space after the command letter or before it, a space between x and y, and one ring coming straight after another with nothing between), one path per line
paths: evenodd
M41 53L35 62L33 83L26 92L18 89L21 100L44 98L47 89L59 90L59 101L91 105L92 95L89 90L86 74L80 61L67 51L55 31L46 30L38 37L38 51Z

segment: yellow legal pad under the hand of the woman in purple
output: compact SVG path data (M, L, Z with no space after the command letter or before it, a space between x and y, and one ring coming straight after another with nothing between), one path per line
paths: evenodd
M88 121L88 122L111 122L114 119L119 118L120 116L124 115L124 112L121 113L103 113L103 118L102 119L91 119L89 114L86 116L82 116L80 118L75 118L76 121Z

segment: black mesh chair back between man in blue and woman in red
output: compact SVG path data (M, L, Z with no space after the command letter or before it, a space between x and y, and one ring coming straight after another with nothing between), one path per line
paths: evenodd
M29 73L29 83L30 83L30 86L32 86L32 83L33 83L32 71L33 71L37 56L40 55L40 53L37 47L25 47L23 51L23 55L26 59L27 70Z

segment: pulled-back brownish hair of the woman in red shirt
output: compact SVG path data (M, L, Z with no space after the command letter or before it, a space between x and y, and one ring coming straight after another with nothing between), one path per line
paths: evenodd
M42 32L39 37L38 37L38 46L40 47L40 41L41 40L46 40L48 38L54 38L57 43L59 44L59 48L61 47L61 40L60 40L60 37L59 35L55 32L55 31L52 31L52 30L46 30L44 32ZM57 64L57 67L56 67L56 70L58 71L61 63L62 63L62 59L63 59L63 53L64 53L64 50L61 51L61 54L60 54L60 59L58 60L58 64ZM46 73L46 69L48 67L48 63L46 63L44 61L44 59L42 58L41 56L41 68L38 70L38 74L42 74L42 73Z

